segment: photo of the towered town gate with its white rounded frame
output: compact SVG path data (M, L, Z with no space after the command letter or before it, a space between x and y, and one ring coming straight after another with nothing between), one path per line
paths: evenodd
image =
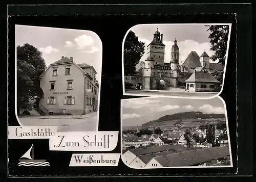
M122 44L123 94L213 98L223 90L231 23L138 24Z

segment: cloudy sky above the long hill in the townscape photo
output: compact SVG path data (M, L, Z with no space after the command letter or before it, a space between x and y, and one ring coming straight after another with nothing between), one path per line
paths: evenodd
M218 97L212 99L144 97L123 99L121 102L122 126L140 126L162 116L180 112L201 111L208 114L225 114L224 103Z

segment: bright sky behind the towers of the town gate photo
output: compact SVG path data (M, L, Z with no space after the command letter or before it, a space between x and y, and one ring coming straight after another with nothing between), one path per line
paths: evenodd
M165 44L164 62L170 62L170 49L174 44L175 38L180 50L180 64L183 64L191 51L196 51L199 56L204 51L210 57L214 54L210 51L209 32L205 24L139 24L131 28L139 41L145 42L146 46L153 40L153 34L157 31L163 34L163 43ZM145 54L140 61L146 59ZM210 60L212 62L212 60ZM218 63L215 61L214 63Z

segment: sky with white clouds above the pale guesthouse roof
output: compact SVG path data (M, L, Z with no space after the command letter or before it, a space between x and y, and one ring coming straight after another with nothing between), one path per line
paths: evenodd
M100 83L102 66L102 42L99 36L86 30L59 29L16 25L16 46L29 43L42 52L46 66L61 59L73 57L77 64L87 63L97 71Z

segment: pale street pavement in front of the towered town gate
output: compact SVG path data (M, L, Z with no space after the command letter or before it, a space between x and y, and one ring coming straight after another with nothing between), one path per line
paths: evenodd
M202 98L213 97L218 94L218 92L180 92L180 91L167 91L167 90L159 90L159 91L125 90L125 93L136 94L136 95L150 95L150 96L181 96L181 97L202 97Z

